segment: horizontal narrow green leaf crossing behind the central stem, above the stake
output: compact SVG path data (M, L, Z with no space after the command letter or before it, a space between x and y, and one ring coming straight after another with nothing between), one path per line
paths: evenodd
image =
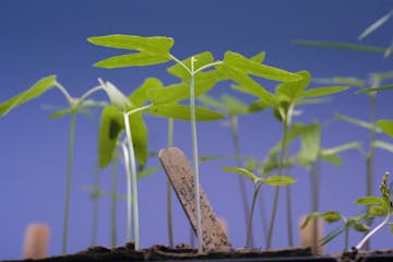
M148 108L148 110L156 116L174 118L178 120L191 120L191 108L190 106L178 105L178 104L164 104L155 105ZM195 108L196 121L212 121L224 118L224 115L212 111L205 107Z

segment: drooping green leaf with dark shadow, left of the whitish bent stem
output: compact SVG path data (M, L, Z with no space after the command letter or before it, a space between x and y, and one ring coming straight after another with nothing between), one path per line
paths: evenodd
M119 109L115 106L105 107L98 134L99 167L105 168L111 162L116 143L123 129L123 117Z

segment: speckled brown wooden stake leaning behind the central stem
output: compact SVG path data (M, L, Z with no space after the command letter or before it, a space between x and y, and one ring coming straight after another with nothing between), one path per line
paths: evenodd
M196 233L194 176L184 154L177 147L168 147L160 150L158 157L194 233ZM201 186L200 198L203 251L229 250L231 246L228 236L214 214Z

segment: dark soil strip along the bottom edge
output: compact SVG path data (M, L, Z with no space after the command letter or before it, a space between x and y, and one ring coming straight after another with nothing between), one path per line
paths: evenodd
M365 258L369 258L366 259ZM128 262L128 261L393 261L393 250L379 250L372 252L350 252L342 254L313 255L311 249L294 248L283 250L234 249L230 251L214 251L198 253L187 245L176 248L167 246L153 246L151 248L134 250L133 243L118 248L92 247L78 253L50 257L39 260L9 260L3 262L35 261L35 262Z

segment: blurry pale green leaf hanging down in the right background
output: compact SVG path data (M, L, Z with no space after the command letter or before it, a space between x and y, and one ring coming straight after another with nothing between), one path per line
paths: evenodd
M305 166L310 166L319 157L321 150L321 127L319 123L308 126L294 123L293 128L300 129L301 148L297 160Z

